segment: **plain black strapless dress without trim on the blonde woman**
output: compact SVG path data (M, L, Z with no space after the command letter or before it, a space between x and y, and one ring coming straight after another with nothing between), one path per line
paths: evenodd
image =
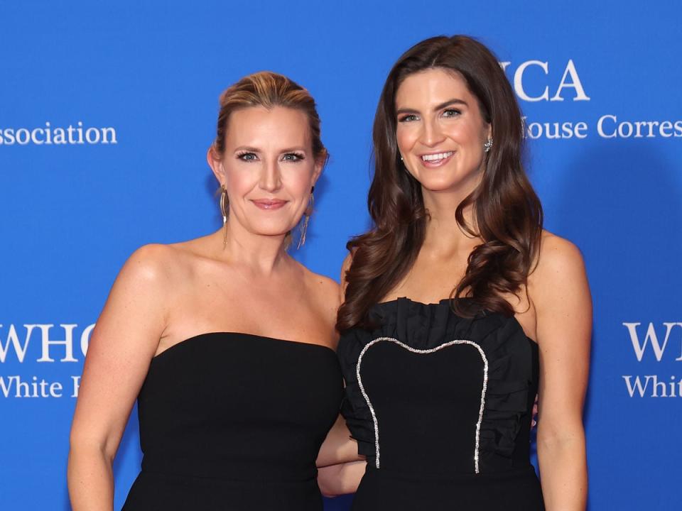
M315 458L342 400L335 352L202 334L153 358L124 511L321 511Z

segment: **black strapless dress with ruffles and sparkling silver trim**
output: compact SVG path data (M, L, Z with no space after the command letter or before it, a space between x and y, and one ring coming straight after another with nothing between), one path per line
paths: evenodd
M540 511L530 463L538 347L513 317L450 300L377 304L338 356L342 412L367 471L354 511Z

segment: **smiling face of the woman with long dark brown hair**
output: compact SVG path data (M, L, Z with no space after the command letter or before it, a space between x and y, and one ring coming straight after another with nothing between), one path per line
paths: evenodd
M441 68L409 75L396 92L396 114L401 157L423 192L463 198L475 189L492 128L462 77Z

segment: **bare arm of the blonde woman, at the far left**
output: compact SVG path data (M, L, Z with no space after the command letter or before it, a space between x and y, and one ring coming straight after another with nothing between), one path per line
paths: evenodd
M166 325L167 251L131 255L92 332L70 435L74 511L113 510L114 456Z

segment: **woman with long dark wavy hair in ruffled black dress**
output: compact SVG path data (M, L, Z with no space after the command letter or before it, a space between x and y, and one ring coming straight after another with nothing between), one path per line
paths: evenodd
M374 227L348 244L337 318L367 458L353 510L585 508L590 293L578 249L542 229L522 128L471 38L424 40L386 79Z

